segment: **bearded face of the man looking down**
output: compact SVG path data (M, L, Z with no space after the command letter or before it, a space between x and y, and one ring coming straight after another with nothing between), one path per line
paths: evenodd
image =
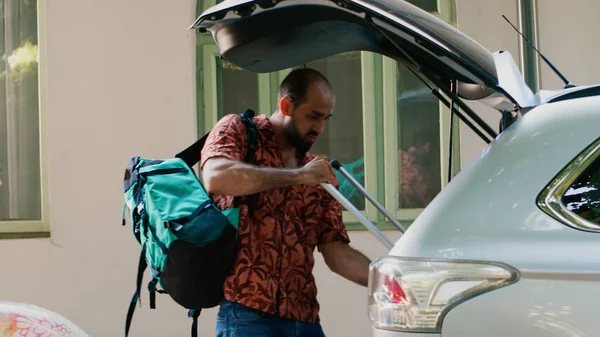
M320 82L311 85L303 103L290 104L283 129L286 140L299 152L308 152L323 133L334 107L333 92Z

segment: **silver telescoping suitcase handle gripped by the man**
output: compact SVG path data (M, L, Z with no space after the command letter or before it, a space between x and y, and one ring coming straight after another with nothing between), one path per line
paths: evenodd
M333 159L332 161L330 161L330 163L334 169L338 170L346 179L348 179L348 181L356 188L356 190L358 190L360 194L367 198L367 200L369 200L377 208L377 210L383 213L383 215L396 228L398 228L400 232L404 233L406 231L406 229L402 227L398 220L396 220L396 218L392 214L390 214L390 212L388 212L388 210L385 209L377 201L377 199L373 198L373 196L369 194L369 192L358 181L356 181L356 179L354 179L354 177L345 168L342 167L339 161ZM331 194L337 201L339 201L345 209L352 213L352 215L354 215L356 219L358 219L358 221L360 221L360 223L363 224L363 226L365 226L371 233L373 233L373 235L375 235L379 239L379 241L381 241L381 243L383 243L388 249L391 249L394 246L393 242L385 234L383 234L383 232L379 228L377 228L373 223L371 223L371 221L369 221L369 219L367 219L367 217L365 217L348 199L346 199L346 197L344 197L344 195L340 193L340 191L333 187L333 185L321 184L321 186L323 186L327 190L327 192L329 192L329 194Z

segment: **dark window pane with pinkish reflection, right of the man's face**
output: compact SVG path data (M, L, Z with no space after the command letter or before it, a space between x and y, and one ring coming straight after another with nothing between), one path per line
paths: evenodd
M423 208L440 192L439 103L404 66L398 67L399 208Z

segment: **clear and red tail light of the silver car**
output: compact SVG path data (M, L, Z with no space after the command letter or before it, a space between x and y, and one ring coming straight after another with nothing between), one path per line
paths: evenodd
M369 317L377 329L441 332L452 307L517 278L499 263L384 257L369 270Z

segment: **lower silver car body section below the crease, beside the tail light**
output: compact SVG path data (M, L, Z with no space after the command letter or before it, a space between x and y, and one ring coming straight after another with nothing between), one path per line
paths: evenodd
M592 299L598 293L597 273L524 274L513 285L452 309L444 319L442 336L600 336L597 305Z

